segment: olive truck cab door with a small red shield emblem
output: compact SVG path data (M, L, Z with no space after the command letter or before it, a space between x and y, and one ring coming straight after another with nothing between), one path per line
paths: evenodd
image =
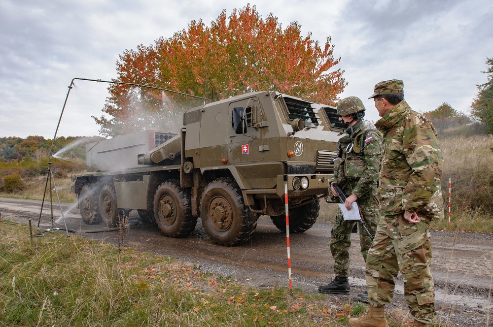
M259 162L264 159L264 128L268 125L257 97L229 104L228 160L230 163Z

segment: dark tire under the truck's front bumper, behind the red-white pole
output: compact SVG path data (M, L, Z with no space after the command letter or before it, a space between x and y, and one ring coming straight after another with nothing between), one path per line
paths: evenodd
M289 232L302 233L317 222L320 203L307 203L301 207L289 210ZM272 222L282 231L286 231L286 215L271 216Z

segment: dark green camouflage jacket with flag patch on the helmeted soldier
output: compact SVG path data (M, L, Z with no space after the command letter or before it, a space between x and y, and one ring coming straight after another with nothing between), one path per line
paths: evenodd
M341 187L349 196L358 198L377 194L377 181L382 153L382 134L358 121L348 136L339 139L342 147L341 158L334 161L334 175L330 182ZM370 192L373 191L373 192Z

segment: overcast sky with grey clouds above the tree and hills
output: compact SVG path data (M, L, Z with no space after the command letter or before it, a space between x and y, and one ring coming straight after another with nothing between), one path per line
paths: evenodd
M0 0L0 137L53 138L74 77L116 78L125 49L186 29L210 26L236 0ZM296 21L322 45L332 37L337 68L349 82L341 98L357 96L366 118L378 120L375 83L404 80L405 97L420 112L447 102L467 112L487 81L493 57L491 0L249 1L282 27ZM57 136L97 135L107 84L76 81ZM182 91L182 90L178 90Z

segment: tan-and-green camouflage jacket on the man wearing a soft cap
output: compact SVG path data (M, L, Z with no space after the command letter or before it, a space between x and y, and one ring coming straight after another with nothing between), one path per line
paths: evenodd
M443 218L442 151L432 123L397 103L375 126L384 135L380 169L381 214L403 211Z

